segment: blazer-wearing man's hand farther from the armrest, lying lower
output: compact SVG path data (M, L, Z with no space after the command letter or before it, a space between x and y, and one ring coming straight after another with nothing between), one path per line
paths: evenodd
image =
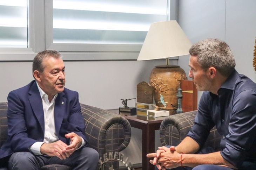
M62 141L56 141L53 143L43 143L40 148L40 152L43 155L57 156L61 160L65 160L69 155L63 153L63 149L66 149L67 144Z

